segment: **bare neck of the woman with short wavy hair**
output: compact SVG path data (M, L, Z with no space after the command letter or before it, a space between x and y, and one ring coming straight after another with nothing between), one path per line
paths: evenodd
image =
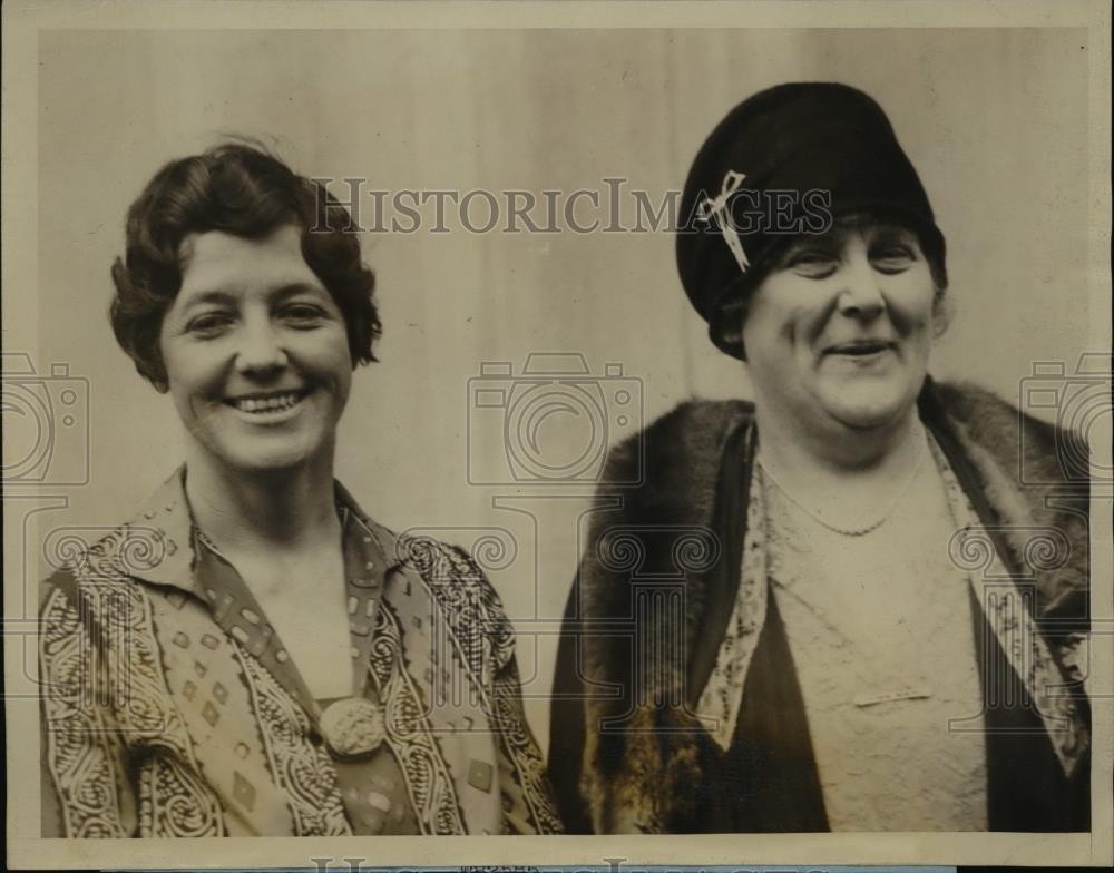
M280 471L244 472L192 448L186 496L197 527L233 552L295 552L338 541L331 454ZM265 551L257 551L265 550Z

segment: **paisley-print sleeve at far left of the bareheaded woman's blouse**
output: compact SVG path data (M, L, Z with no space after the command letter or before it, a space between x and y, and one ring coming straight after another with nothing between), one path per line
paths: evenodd
M219 804L198 778L167 696L148 605L104 556L77 566L77 602L60 590L50 595L43 622L47 753L67 833L127 836L134 815L134 826L152 836L221 836ZM131 754L150 753L137 807L121 803L125 738Z

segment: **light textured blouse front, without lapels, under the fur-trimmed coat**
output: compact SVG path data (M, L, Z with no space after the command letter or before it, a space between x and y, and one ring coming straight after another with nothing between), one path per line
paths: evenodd
M859 537L819 523L769 477L762 487L772 596L831 830L985 831L973 604L949 558L959 526L938 465L921 463L892 514Z

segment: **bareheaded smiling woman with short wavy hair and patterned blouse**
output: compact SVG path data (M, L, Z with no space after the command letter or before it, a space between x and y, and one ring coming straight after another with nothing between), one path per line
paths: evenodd
M113 327L186 458L43 586L46 836L560 830L490 583L333 479L380 332L350 225L246 145L128 214Z

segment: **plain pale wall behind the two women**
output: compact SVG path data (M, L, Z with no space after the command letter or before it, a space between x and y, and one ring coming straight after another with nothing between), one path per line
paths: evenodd
M1034 362L1071 370L1103 347L1088 336L1087 51L1085 31L1053 29L45 32L36 364L88 380L91 460L43 524L113 527L180 459L170 402L113 339L108 271L152 174L232 131L305 175L372 188L570 192L614 176L658 199L753 91L857 86L889 115L948 241L956 317L934 373L1016 402ZM531 352L580 352L593 373L620 363L638 380L648 421L691 396L744 395L744 367L707 342L664 233L422 230L364 246L385 333L381 363L356 374L338 475L395 530L479 552L488 534L512 543L489 556L491 578L545 744L587 490L470 484L468 380L485 361L517 373ZM580 438L583 422L553 422L543 452ZM506 465L497 439L472 451Z

